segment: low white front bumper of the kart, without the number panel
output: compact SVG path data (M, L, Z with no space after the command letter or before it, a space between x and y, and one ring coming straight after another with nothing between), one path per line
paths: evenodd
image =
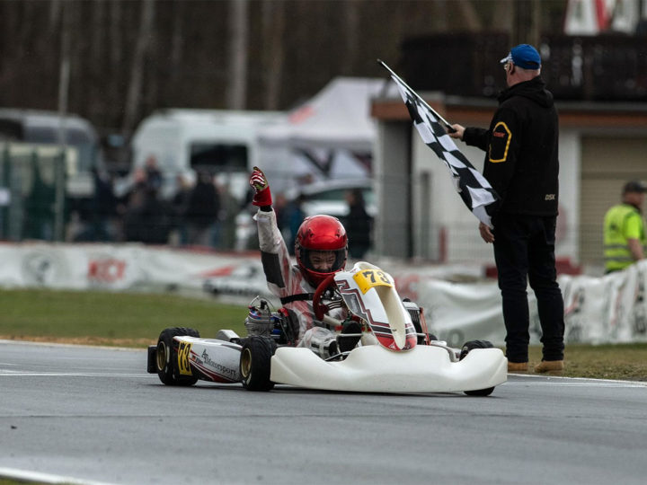
M508 359L499 348L474 348L452 362L446 348L419 345L394 352L379 345L353 349L327 362L307 348L277 348L270 379L308 389L348 392L464 392L506 382Z

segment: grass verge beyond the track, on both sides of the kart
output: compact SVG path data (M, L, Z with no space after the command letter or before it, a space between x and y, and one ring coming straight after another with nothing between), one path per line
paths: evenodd
M0 290L0 339L144 348L166 327L203 337L232 329L244 335L246 305L208 298L51 290ZM530 366L541 348L530 348ZM647 381L647 344L567 345L561 375Z

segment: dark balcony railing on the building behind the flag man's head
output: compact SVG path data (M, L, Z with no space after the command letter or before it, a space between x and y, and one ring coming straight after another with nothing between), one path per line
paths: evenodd
M542 77L558 100L647 101L647 36L545 36L537 46ZM403 43L400 71L418 91L495 97L508 34L462 32Z

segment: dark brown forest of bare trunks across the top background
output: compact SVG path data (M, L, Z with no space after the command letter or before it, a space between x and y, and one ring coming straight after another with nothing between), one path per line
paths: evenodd
M565 8L565 0L0 0L0 106L73 112L103 136L128 139L156 109L288 110L335 76L382 77L376 59L397 66L403 42L416 37L501 31L537 42L562 31Z

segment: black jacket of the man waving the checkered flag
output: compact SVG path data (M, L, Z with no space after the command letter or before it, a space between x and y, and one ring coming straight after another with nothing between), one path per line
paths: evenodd
M536 76L499 96L490 129L465 128L485 150L483 175L501 196L501 213L556 216L559 123L553 94Z

